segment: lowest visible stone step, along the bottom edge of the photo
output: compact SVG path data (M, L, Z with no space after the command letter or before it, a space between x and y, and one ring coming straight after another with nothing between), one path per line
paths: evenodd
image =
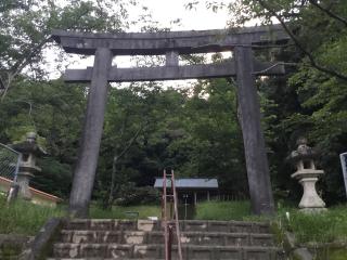
M165 257L163 244L125 245L125 244L72 244L57 243L53 253L57 258L149 258L163 259ZM197 246L182 245L184 259L248 259L277 260L281 259L281 251L277 247L235 247L235 246ZM177 259L177 247L172 246L172 259Z

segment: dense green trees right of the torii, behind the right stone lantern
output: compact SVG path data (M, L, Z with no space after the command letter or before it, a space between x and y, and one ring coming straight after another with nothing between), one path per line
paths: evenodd
M320 183L323 196L330 204L340 202L344 192L338 154L346 150L347 136L347 70L343 51L347 43L347 3L240 0L230 8L236 14L232 24L252 18L262 23L277 21L292 38L292 47L272 54L297 66L288 69L285 79L267 81L270 86L262 88L267 99L278 106L271 109L278 119L270 126L278 138L270 143L273 152L281 154L273 169L277 179L282 179L280 185L288 186L283 183L288 179L283 167L285 154L294 148L296 138L307 135L322 153L321 167L326 171Z

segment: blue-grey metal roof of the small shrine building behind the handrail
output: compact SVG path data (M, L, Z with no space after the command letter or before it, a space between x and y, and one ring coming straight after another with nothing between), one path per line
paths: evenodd
M175 184L177 188L218 188L217 179L176 179ZM170 180L166 185L171 185ZM156 178L154 187L163 187L163 178Z

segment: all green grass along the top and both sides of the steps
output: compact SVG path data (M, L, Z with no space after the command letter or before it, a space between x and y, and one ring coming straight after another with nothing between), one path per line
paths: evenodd
M159 206L115 206L112 211L105 211L97 206L91 207L91 218L125 219L128 211L139 212L140 219L159 217ZM290 212L290 219L285 212ZM17 202L8 207L0 199L0 233L35 234L50 217L64 216L65 211L36 206L26 202ZM293 208L282 208L274 217L286 230L296 234L300 243L308 242L344 242L347 243L347 207L330 208L320 214L304 214ZM267 220L250 214L248 202L210 202L202 203L196 208L195 219L201 220Z

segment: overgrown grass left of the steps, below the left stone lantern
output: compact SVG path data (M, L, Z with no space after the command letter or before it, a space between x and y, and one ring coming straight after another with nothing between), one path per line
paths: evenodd
M50 208L17 200L10 206L0 197L0 234L35 235L51 217L61 217L61 207Z

